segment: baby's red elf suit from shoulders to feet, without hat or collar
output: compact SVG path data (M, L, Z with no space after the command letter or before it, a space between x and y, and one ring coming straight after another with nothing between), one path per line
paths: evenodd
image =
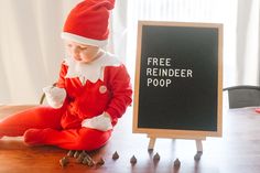
M52 144L72 150L102 147L110 138L111 130L85 128L82 121L106 111L111 116L112 126L117 123L131 104L132 90L126 67L106 66L104 80L87 80L85 85L78 77L66 78L67 69L68 66L63 63L57 83L67 91L63 107L54 109L40 106L10 116L0 122L0 136L24 134L25 143L31 145Z

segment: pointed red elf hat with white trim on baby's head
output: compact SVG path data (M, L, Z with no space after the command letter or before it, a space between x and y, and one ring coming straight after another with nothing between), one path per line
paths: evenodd
M62 39L80 44L104 46L108 42L109 10L115 0L84 0L68 14Z

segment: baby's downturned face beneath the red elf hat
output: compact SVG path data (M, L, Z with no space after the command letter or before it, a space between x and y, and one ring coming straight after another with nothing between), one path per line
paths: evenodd
M69 56L80 63L90 63L101 55L101 50L98 46L79 44L72 41L66 41L65 44Z

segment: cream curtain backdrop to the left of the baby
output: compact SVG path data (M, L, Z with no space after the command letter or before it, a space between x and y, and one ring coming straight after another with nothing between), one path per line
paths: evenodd
M0 104L36 104L64 58L59 33L79 0L0 1Z

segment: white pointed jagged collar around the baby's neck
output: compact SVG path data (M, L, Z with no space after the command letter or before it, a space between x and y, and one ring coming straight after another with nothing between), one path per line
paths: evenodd
M83 85L86 80L96 83L99 78L102 80L104 67L119 66L121 63L112 54L105 52L99 58L90 63L79 63L72 57L65 58L65 65L68 66L65 78L79 77Z

